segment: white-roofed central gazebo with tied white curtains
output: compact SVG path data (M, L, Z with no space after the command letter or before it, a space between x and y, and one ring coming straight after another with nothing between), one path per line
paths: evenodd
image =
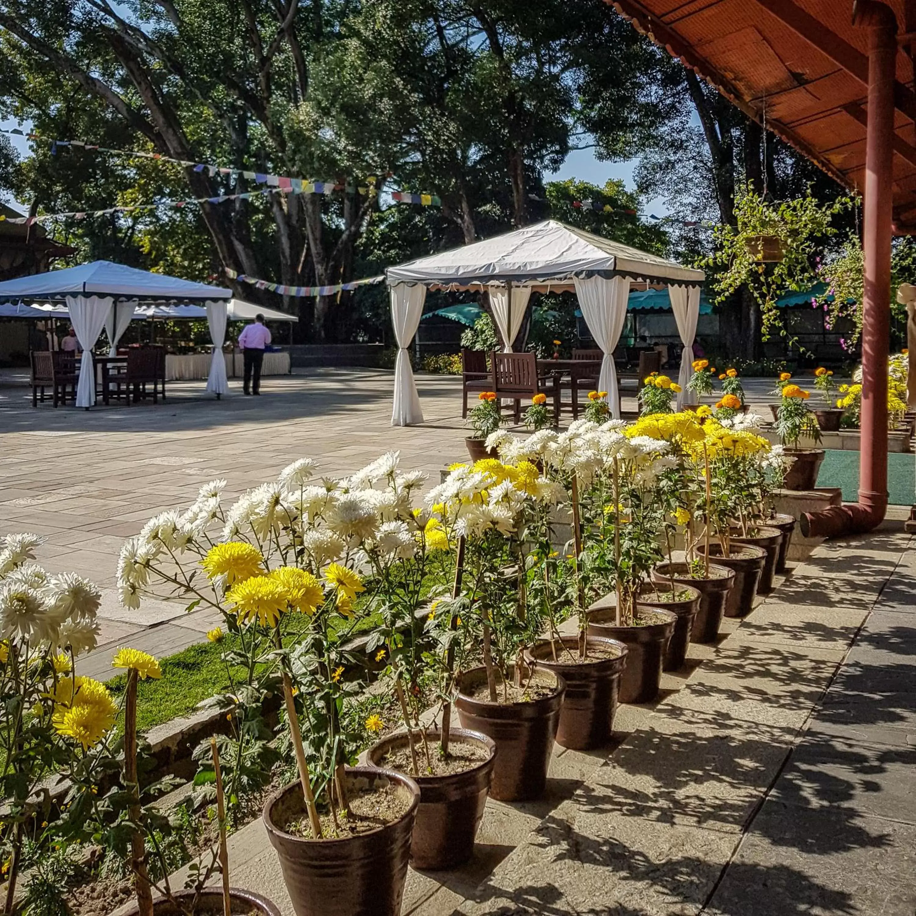
M575 291L583 318L605 354L599 387L620 416L614 350L635 283L667 286L683 343L678 407L691 403L686 389L700 312L702 270L683 267L638 248L546 220L494 238L388 267L391 317L398 338L392 426L423 421L407 348L423 312L427 289L485 289L507 350L521 326L532 292Z

